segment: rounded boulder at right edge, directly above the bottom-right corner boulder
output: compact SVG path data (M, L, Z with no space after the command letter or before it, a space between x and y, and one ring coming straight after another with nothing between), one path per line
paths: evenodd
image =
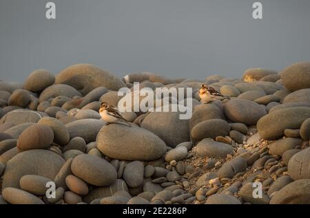
M292 179L310 179L310 148L301 150L291 157L287 166Z

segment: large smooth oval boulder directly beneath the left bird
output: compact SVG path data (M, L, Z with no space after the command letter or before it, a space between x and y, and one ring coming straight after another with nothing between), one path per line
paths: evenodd
M121 123L101 128L96 143L107 157L129 161L153 161L166 151L165 142L153 132Z

